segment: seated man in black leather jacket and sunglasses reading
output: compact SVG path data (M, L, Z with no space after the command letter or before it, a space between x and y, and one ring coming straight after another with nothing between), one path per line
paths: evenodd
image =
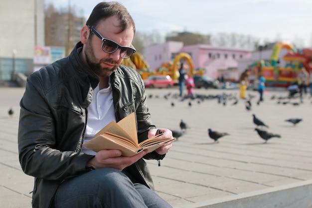
M20 101L18 151L22 170L35 177L33 208L171 207L152 190L142 158L163 159L172 142L133 157L82 148L132 112L139 142L156 134L140 75L120 65L135 52L134 34L123 5L101 2L71 54L29 75ZM168 129L161 131L172 138Z

